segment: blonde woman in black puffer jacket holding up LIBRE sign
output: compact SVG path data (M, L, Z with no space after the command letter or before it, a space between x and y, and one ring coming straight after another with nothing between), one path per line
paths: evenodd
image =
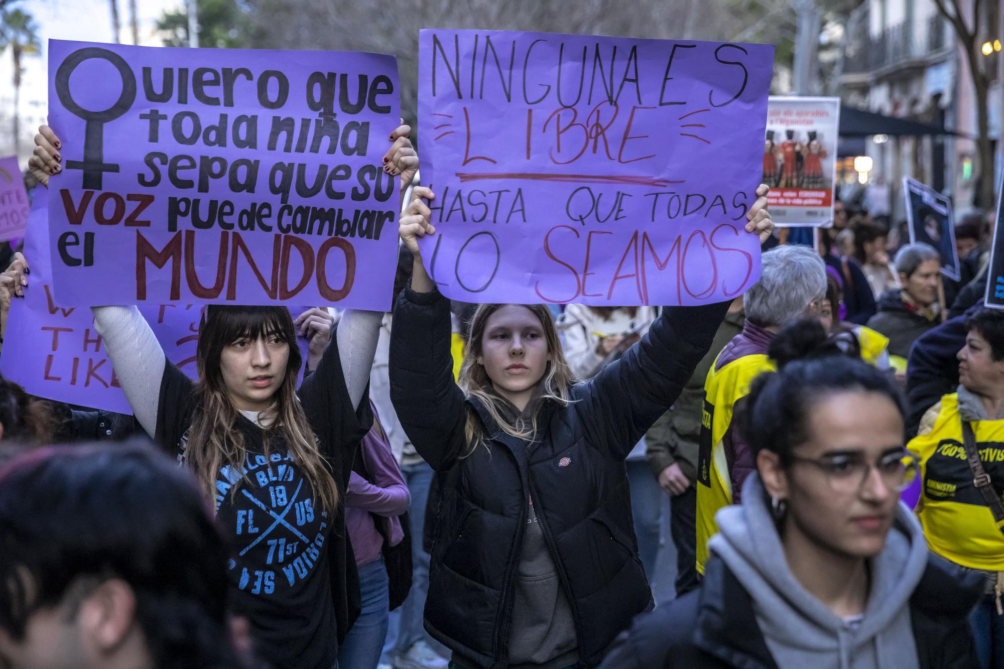
M728 302L667 307L642 341L573 385L544 305L482 304L454 383L450 302L417 238L434 232L417 188L401 220L415 263L395 309L391 397L439 472L426 629L453 666L595 666L652 602L624 458L714 340ZM746 230L768 235L767 187Z

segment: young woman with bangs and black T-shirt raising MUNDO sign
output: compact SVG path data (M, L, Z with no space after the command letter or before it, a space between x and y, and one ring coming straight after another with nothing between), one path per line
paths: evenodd
M384 159L402 193L418 167L410 132L395 131ZM61 145L47 127L35 143L30 168L47 185ZM341 501L372 421L362 399L383 313L345 311L328 345L322 309L294 321L284 306L209 306L193 383L135 306L93 312L137 420L215 502L232 546L232 610L256 654L277 669L336 667L351 624L346 593L357 587ZM310 340L314 370L298 390L297 332Z

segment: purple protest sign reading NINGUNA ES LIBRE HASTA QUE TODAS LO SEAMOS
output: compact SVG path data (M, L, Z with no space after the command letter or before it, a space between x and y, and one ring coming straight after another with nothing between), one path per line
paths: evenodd
M423 242L469 302L696 304L759 276L774 49L422 30Z

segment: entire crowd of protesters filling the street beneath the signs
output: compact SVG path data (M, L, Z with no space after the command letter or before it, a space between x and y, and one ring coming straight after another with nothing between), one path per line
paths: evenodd
M416 187L392 312L211 306L192 382L94 307L134 416L0 382L0 666L1004 667L989 222L957 225L949 281L840 202L817 248L770 235L761 188L762 274L728 303L451 303ZM288 536L248 542L266 519Z

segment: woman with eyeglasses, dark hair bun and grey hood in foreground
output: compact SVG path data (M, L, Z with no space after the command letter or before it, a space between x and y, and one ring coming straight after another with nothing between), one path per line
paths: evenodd
M899 502L917 476L895 383L818 321L782 330L753 383L757 472L718 512L701 587L640 616L603 667L963 669L979 579L929 553Z

